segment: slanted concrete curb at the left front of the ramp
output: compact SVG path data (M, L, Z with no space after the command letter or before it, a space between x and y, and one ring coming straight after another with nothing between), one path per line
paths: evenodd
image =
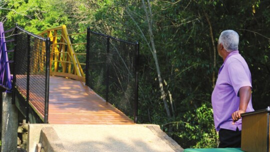
M67 151L52 127L43 127L41 129L39 143L42 143L45 151Z

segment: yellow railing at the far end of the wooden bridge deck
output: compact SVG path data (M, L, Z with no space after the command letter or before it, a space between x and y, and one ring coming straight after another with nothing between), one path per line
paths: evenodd
M85 32L75 34L82 33ZM77 55L86 55L86 52L76 53L73 49L73 45L86 44L86 42L72 44L69 35L74 34L68 34L65 25L46 29L38 35L50 38L50 75L85 81L85 75L81 67L81 65L85 65L85 63L80 63Z

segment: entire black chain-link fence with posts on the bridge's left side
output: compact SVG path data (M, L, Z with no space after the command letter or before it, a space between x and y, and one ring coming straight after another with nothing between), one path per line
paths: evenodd
M28 109L31 104L43 116L44 123L47 123L49 38L44 39L17 26L14 39L13 85L28 103L26 121L28 121Z

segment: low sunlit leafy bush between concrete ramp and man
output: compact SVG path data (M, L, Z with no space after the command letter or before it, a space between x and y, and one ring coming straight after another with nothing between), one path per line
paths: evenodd
M217 134L213 126L212 109L210 105L202 104L193 111L187 111L179 115L180 121L173 123L172 136L181 146L192 148L211 148L216 147ZM188 141L188 142L186 142ZM192 143L192 144L190 144Z

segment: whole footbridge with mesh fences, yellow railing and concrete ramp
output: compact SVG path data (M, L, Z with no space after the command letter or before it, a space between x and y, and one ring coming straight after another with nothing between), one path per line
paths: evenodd
M7 41L12 41L9 45L14 46L9 50L0 47L0 86L12 91L12 94L3 93L6 107L12 110L3 108L6 119L2 122L8 125L2 125L1 132L6 134L1 135L1 151L17 150L18 114L26 118L21 128L27 128L24 135L29 152L183 151L158 125L134 123L138 101L138 42L127 42L87 28L87 32L82 32L86 34L82 35L86 36L86 42L71 43L69 35L74 34L68 34L65 25L47 29L39 34L41 37L16 25L4 32L14 37L6 41L1 25L1 46ZM86 44L85 52L74 51L73 45L80 44ZM5 75L10 73L11 63L7 52L14 52L13 77ZM78 60L83 55L86 55L85 63ZM134 122L85 86L82 81L88 82L88 86L91 86L89 82L100 84L84 73L106 79L106 84L101 84L106 92L101 94L107 94L115 106L117 101L123 103L118 108L125 113L132 115L133 111Z

